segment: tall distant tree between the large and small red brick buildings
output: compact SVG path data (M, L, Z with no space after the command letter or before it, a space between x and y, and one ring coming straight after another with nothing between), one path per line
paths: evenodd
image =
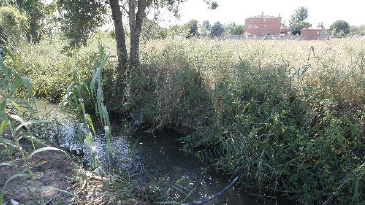
M293 12L289 20L289 28L293 35L300 35L303 28L312 26L312 24L306 22L307 18L308 9L306 7L299 7Z

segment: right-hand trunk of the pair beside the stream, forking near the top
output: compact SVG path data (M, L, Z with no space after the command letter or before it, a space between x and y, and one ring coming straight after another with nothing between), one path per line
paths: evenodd
M136 13L137 7L137 13ZM129 26L131 31L131 50L130 50L130 68L138 69L140 66L139 58L139 38L143 19L146 15L146 0L130 0L129 1Z

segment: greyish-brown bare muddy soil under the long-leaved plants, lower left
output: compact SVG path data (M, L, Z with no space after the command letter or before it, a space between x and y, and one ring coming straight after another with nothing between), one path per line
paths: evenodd
M11 140L11 136L8 132L5 132L3 137ZM32 151L32 143L29 140L22 140L21 146L23 150L27 151L27 154ZM24 161L18 152L13 153L11 158L19 167L19 170L25 169ZM66 190L76 196L68 196L55 189L46 189L42 191L42 196L47 205L65 204L69 202L71 202L71 204L85 205L149 204L139 200L128 200L129 202L117 201L115 197L112 197L111 194L109 194L107 186L103 181L93 177L80 177L80 167L77 166L75 161L76 160L69 158L60 151L39 152L32 156L31 166L36 166L40 163L42 164L41 166L32 169L38 186L41 187L41 189L46 186L52 186L57 189ZM0 162L11 162L3 147L0 147ZM18 173L18 171L12 166L0 166L0 190L3 189L8 178L16 173ZM27 190L24 183L28 184L32 194ZM12 181L9 181L5 188L6 192L3 204L1 205L11 205L11 200L15 200L20 204L40 204L37 197L39 195L30 179L24 178L24 180L22 180L20 178L15 178Z

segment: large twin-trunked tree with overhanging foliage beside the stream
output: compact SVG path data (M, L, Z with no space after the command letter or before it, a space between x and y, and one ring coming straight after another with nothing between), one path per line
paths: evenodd
M72 24L72 29L78 29L82 32L83 36L88 37L100 24L103 23L103 15L107 12L104 8L110 7L112 13L112 19L115 26L115 39L117 42L118 51L118 73L123 74L129 65L130 69L138 69L140 66L139 58L139 43L142 31L142 25L146 18L146 11L158 11L159 9L166 8L173 12L175 16L178 16L179 5L187 0L109 0L105 2L104 0L62 0L65 2L70 2L72 4L64 5L64 17L69 17L74 19L77 24ZM215 9L218 4L212 0L204 0L211 9ZM107 5L109 4L109 5ZM94 6L96 8L94 8ZM89 9L92 6L92 9ZM98 10L98 7L101 8ZM87 8L87 9L85 9ZM149 9L153 8L153 9ZM122 9L122 10L121 10ZM92 10L92 11L87 11ZM158 13L158 12L156 12ZM126 46L126 35L124 32L124 22L123 15L128 16L128 24L130 30L130 52L129 58ZM85 18L84 20L78 20L77 16L89 17L93 16L92 19ZM71 18L72 17L72 18ZM67 21L63 21L67 23ZM64 26L64 28L67 25ZM64 32L74 32L70 29L64 29ZM69 35L70 36L70 35ZM74 35L73 35L74 36ZM83 39L76 39L75 45L82 42Z

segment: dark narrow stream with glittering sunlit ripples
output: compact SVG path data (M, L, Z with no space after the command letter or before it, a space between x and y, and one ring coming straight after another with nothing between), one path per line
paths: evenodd
M42 104L38 108L47 112L48 117L63 116L52 104ZM44 109L43 109L44 108ZM85 162L91 162L91 154L86 143L75 142L75 129L72 121L64 121L55 125L48 134L57 138L61 147L80 152L84 150ZM97 127L97 126L96 126ZM155 185L161 193L167 193L161 201L192 202L204 200L220 192L231 179L227 176L209 172L207 165L196 156L182 150L180 137L175 132L147 134L138 132L127 135L118 121L112 122L112 156L111 165L120 172L134 176L136 183ZM93 147L99 156L100 163L107 167L106 140L102 132L93 139ZM276 204L274 198L262 199L246 194L233 186L218 198L206 203L208 205L261 205Z

